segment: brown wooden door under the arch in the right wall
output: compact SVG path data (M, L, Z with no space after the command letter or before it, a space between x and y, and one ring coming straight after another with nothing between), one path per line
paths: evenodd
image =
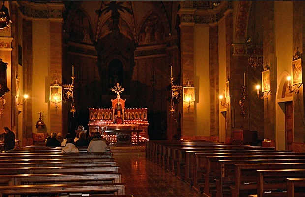
M292 150L292 142L293 142L293 105L292 105L292 102L285 103L285 131L286 131L286 150Z

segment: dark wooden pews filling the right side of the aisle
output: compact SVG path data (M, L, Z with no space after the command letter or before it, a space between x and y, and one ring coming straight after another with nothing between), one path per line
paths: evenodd
M149 141L146 157L204 197L305 196L305 153L183 140Z

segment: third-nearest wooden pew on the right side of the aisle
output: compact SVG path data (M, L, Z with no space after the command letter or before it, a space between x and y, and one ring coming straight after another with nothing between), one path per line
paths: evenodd
M256 164L235 164L234 170L234 178L230 181L234 182L230 186L232 197L239 197L241 193L253 194L253 191L257 193L257 188L259 187L257 184L257 170L259 169L305 169L305 162L303 163L288 163L287 162L276 162L270 163L272 160L267 162L261 162ZM224 183L225 180L222 180ZM244 184L244 183L249 184ZM228 183L230 184L230 182ZM222 188L217 188L217 196L221 196L220 192Z

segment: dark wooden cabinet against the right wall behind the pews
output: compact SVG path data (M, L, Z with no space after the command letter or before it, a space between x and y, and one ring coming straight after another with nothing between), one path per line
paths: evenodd
M257 144L257 131L233 130L233 144Z

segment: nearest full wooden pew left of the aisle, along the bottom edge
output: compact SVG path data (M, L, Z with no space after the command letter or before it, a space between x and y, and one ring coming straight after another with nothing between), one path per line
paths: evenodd
M17 185L0 186L0 197L3 195L34 195L34 194L61 194L61 193L101 193L125 194L124 183L99 184L46 184L46 185Z

